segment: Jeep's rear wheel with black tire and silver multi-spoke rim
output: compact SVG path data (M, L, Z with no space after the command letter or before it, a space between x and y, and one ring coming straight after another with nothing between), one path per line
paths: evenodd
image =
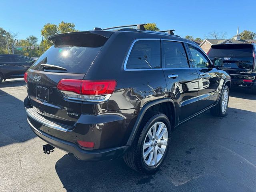
M124 162L137 172L152 174L164 161L170 141L171 124L168 117L159 112L148 112L132 146L124 155Z

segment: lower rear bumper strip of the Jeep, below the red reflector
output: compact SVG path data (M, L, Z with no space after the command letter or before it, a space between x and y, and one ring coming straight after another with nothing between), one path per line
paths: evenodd
M41 130L35 128L29 119L27 120L28 120L28 124L30 125L30 128L38 137L40 137L42 140L44 140L48 144L54 146L55 148L59 148L61 150L64 150L67 153L74 154L80 160L103 161L103 160L112 160L115 158L120 158L124 155L124 153L129 147L129 146L121 146L117 148L108 148L104 150L92 150L92 151L83 150L72 142L68 142L66 140L62 140L54 136L51 136L49 134L46 134L45 132L42 132Z

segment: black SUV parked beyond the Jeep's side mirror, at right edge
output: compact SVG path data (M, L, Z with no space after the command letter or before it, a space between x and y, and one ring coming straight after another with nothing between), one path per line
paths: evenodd
M212 45L208 51L211 60L223 59L222 69L229 72L234 86L250 88L256 94L256 44Z

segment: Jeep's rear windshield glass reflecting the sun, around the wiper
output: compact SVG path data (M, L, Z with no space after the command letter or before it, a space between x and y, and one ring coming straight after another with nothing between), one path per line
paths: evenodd
M67 73L85 74L90 68L92 62L99 53L101 47L83 47L68 45L51 46L36 62L31 66L33 70L43 70L41 64L56 65L66 68ZM44 70L52 71L52 70Z

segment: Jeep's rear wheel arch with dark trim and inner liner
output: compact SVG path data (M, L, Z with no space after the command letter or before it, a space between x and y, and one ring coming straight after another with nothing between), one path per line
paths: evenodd
M160 106L165 106L164 108L159 108ZM167 111L168 107L171 107L170 110L168 110L168 113L166 114L165 112ZM168 116L172 128L175 126L175 120L176 120L176 109L175 109L175 104L174 101L171 98L163 98L163 99L158 99L152 102L148 102L145 104L142 109L140 110L140 113L138 115L138 118L133 126L132 132L130 134L130 137L127 141L127 145L131 145L132 142L134 141L134 138L136 137L136 134L140 128L140 123L142 122L142 119L146 112L150 110L158 109L156 111L164 113L166 116ZM171 119L170 119L171 118Z

